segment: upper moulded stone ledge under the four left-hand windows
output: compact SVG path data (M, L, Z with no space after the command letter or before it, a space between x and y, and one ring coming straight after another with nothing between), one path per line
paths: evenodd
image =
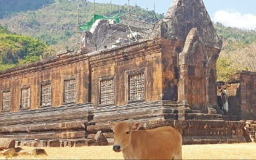
M0 125L24 125L67 120L90 120L92 104L71 104L55 108L40 108L15 113L1 113Z

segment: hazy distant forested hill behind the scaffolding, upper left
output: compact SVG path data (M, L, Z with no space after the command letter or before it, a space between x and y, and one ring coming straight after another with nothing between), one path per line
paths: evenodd
M5 0L4 0L5 1ZM5 1L7 4L17 0ZM33 1L36 8L26 8L22 12L12 12L12 8L6 9L7 14L2 14L3 18L0 19L0 24L10 31L21 33L24 35L33 36L39 40L44 41L47 45L54 47L56 51L63 49L74 49L76 47L77 36L77 12L78 1L76 0L52 0L42 1L35 0L19 0L19 1ZM6 3L1 3L0 6L5 6ZM20 7L22 3L19 3ZM17 5L19 5L17 4ZM7 5L12 6L12 5ZM18 6L16 8L19 8ZM18 10L18 9L17 9ZM127 5L111 5L95 3L95 11L93 3L86 0L81 0L79 5L79 24L83 24L91 19L93 13L99 15L113 16L116 13L126 13L128 10ZM130 10L135 13L135 7L131 6ZM146 15L152 19L154 11L147 11L137 6L138 14ZM162 19L162 14L156 15L157 19ZM138 17L141 19L142 17Z

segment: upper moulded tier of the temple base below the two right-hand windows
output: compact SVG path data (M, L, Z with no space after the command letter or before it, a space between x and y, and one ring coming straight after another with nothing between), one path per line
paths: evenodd
M107 120L225 120L225 115L208 114L192 110L187 101L159 100L155 102L134 102L124 106L102 106L94 109L92 122Z

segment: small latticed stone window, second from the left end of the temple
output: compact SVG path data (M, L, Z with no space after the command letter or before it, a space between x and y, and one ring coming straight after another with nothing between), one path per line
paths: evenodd
M20 109L30 108L30 87L24 87L20 89Z

